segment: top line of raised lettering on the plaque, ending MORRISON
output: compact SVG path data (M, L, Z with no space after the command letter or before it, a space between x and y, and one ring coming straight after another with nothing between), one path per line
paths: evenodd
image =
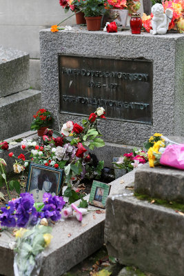
M72 69L72 68L61 68L62 74L67 75L81 75L85 77L116 77L125 81L148 81L148 74L145 73L125 73L125 72L108 72L108 71L94 71L85 69Z

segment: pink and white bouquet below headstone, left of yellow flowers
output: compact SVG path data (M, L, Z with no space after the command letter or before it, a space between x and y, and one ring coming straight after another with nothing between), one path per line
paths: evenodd
M117 162L112 163L115 164L116 168L125 169L126 172L130 172L134 168L145 164L147 159L147 153L145 151L134 148L132 152L125 153L123 156L119 157Z

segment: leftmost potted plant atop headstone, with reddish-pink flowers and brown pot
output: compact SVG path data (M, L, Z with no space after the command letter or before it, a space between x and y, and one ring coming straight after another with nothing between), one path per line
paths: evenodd
M65 9L65 12L72 10L76 16L76 24L86 24L84 14L81 11L81 2L78 0L59 0L60 5Z

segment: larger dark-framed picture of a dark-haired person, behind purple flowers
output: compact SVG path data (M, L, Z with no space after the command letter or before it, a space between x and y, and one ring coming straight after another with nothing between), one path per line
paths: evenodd
M42 202L44 193L59 195L62 181L63 170L31 163L26 192L34 196L35 202Z

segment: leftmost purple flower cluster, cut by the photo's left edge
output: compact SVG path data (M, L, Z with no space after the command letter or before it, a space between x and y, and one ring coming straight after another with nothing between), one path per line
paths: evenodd
M12 215L14 212L14 203L10 201L7 208L3 207L1 208L1 211L3 212L3 214L0 215L1 226L15 227L16 220Z

